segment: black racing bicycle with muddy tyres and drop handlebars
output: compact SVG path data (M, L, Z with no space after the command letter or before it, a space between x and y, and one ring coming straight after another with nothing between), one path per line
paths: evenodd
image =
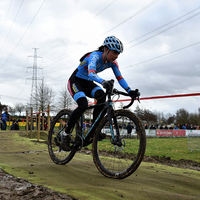
M71 133L72 149L68 152L60 147L60 133L65 130L71 111L61 110L51 122L48 150L54 163L64 165L70 162L77 151L92 144L93 161L97 169L106 177L123 179L139 167L146 149L146 135L142 122L133 112L125 110L135 99L139 101L139 97L132 98L123 109L114 110L111 96L129 95L113 88L106 91L106 95L107 101L103 103L103 110L86 133L83 132L84 115L80 117ZM96 106L98 104L89 105L87 110ZM63 127L58 128L60 121ZM125 129L128 123L133 127L131 138L127 137Z

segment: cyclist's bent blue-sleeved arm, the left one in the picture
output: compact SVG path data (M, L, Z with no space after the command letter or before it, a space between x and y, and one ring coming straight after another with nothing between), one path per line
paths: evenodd
M96 81L97 83L102 83L103 79L100 78L96 73L96 64L99 59L100 57L97 53L92 53L88 58L88 76L93 81Z

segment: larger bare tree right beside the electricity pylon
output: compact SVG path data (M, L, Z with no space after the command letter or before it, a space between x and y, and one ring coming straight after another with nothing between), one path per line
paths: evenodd
M45 111L47 110L48 105L53 103L54 97L53 90L42 81L42 83L38 85L36 93L32 94L34 103L32 106L36 111L38 111L39 107L41 108L41 111Z

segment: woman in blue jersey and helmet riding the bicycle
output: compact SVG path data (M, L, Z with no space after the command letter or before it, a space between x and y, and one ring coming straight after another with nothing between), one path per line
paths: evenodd
M104 40L103 45L100 46L98 50L88 52L80 59L78 68L72 73L68 80L68 90L78 104L78 107L71 114L65 132L61 133L61 148L64 151L71 150L70 133L73 130L76 121L88 106L86 96L95 98L97 104L103 103L106 100L103 89L94 82L101 84L105 89L111 87L111 82L99 77L97 75L98 72L107 68L112 68L121 87L124 88L131 97L137 95L137 92L131 90L119 71L116 59L122 52L122 42L115 36L109 36ZM101 112L102 108L103 106L98 106L94 109L93 122Z

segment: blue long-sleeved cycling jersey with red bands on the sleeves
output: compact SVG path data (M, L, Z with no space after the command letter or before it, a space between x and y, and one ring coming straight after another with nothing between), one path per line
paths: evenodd
M129 92L131 89L125 79L122 77L117 61L103 63L102 54L103 52L94 51L87 57L85 57L85 59L78 66L76 76L88 81L95 81L101 84L103 82L103 79L100 78L97 73L107 68L112 68L115 77L117 78L121 87Z

